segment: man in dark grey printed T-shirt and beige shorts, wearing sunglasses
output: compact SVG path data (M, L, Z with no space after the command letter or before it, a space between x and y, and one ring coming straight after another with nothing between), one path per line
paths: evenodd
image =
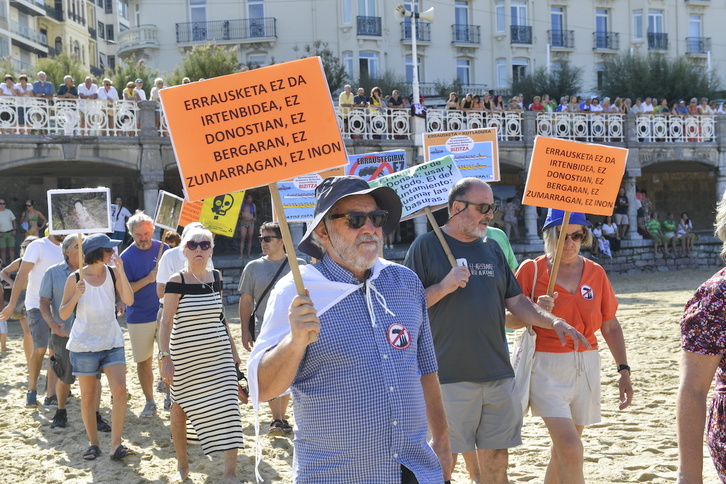
M433 232L406 254L426 288L451 450L463 454L472 482L504 483L508 449L522 443L522 406L504 333L505 312L527 324L554 328L562 343L587 341L564 319L522 295L499 245L485 237L497 207L491 187L464 178L449 191L441 227L458 266L452 268Z

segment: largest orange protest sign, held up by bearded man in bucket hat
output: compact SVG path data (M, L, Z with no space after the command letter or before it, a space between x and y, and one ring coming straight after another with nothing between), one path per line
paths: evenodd
M319 57L160 91L187 200L347 164Z

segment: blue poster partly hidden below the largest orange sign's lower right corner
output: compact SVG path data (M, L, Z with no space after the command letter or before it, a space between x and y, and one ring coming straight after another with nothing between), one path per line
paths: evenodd
M324 179L344 174L345 169L339 167L278 182L285 219L288 222L312 222L315 218L315 189Z

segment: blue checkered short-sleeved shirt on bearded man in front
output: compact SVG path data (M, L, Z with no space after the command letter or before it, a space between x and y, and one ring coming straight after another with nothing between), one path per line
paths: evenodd
M315 268L331 281L360 284L328 256ZM426 442L421 375L438 367L418 277L387 265L320 323L320 340L291 387L295 482L400 484L401 464L421 483L443 482Z

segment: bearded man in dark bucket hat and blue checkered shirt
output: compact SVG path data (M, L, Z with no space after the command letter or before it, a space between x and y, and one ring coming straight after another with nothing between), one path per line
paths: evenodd
M290 275L273 289L250 355L253 405L292 391L296 483L444 482L451 453L424 289L379 258L401 201L356 176L326 178L315 198L298 245L319 260L301 268L309 297Z

